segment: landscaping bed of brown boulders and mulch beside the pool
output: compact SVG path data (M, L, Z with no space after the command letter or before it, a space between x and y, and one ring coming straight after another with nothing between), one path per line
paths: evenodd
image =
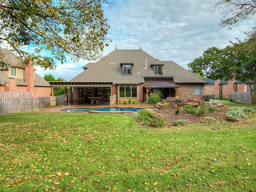
M189 105L196 108L206 108L206 113L204 115L197 115L191 112L185 111L183 108L184 106ZM209 112L207 108L213 107L214 112ZM179 113L177 114L175 111L179 108ZM176 127L176 126L183 126L182 124L174 125L174 122L179 120L184 120L186 122L185 125L193 125L193 124L221 124L227 121L232 122L241 122L247 120L246 118L234 118L228 117L226 112L230 106L224 106L221 103L210 103L204 102L199 100L194 100L193 98L179 98L179 97L169 97L155 105L155 108L150 109L153 112L160 114L163 118L167 119L166 125L164 128ZM248 114L249 118L253 116L253 113ZM143 124L143 122L136 122L136 124L140 126L148 126L148 124Z

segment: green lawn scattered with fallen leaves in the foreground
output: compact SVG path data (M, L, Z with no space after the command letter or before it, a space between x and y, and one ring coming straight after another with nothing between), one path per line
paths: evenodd
M0 191L256 191L256 119L169 129L125 114L0 115Z

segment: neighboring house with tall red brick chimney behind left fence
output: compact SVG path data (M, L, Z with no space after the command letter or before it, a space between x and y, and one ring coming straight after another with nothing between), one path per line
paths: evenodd
M9 67L0 67L0 91L30 91L32 97L49 97L51 85L36 74L33 63L28 65L8 49L0 49L0 53Z

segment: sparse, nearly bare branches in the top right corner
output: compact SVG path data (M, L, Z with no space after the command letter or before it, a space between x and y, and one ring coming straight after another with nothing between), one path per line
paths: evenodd
M255 0L217 0L211 8L212 12L220 12L223 15L220 26L232 26L243 20L249 22L256 13Z

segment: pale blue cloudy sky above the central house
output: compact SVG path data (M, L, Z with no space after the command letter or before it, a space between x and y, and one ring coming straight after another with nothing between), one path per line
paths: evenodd
M246 22L220 28L222 15L210 12L214 0L117 0L111 8L104 6L104 16L112 40L104 47L103 56L117 49L142 49L159 60L172 60L185 69L188 63L202 56L210 47L224 48L235 38L244 39L244 32L252 26ZM40 76L69 81L84 69L89 61L80 60L57 64L56 70L35 66Z

